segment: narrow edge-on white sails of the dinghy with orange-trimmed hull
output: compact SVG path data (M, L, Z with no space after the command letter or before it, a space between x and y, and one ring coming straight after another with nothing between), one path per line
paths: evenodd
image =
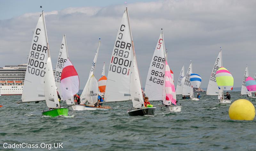
M99 41L98 49L96 51L96 54L95 54L93 62L92 62L92 68L91 68L91 71L89 74L89 78L85 84L84 90L80 97L80 99L81 99L80 104L84 104L87 101L89 103L89 105L94 105L98 100L97 99L98 98L98 81L94 76L94 70L95 70L95 66L96 66L96 62L97 62L97 58L98 58L99 49L100 49L100 41ZM97 90L97 91L95 91L95 90ZM95 96L97 96L97 98ZM95 102L95 100L96 100L96 102ZM95 103L92 104L93 102L95 102Z

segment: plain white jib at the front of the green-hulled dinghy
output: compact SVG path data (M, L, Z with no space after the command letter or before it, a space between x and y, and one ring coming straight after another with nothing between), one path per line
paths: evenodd
M45 95L45 102L47 107L49 108L60 107L60 103L57 95L57 89L54 82L51 57L48 57L46 62L45 75L44 75L44 95Z

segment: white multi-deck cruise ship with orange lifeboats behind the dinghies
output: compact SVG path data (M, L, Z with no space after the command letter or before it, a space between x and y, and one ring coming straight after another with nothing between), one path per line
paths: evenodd
M0 67L0 94L21 95L26 69L27 64Z

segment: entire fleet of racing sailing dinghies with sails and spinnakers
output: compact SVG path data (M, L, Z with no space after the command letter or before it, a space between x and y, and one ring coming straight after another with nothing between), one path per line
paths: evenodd
M98 101L98 95L100 95L104 99L104 103L132 101L132 108L127 111L131 116L154 116L156 107L145 106L145 95L151 101L162 101L161 111L167 113L181 111L181 106L177 106L176 94L189 96L191 100L199 100L199 98L194 97L193 88L199 88L202 78L192 72L192 61L186 75L184 75L184 66L182 67L175 90L173 72L167 63L163 32L157 41L148 70L145 93L143 92L127 8L124 11L116 36L110 59L108 79L105 76L104 62L102 74L97 81L94 71L99 48L100 41L79 104L73 98L73 95L77 94L79 90L79 77L68 58L66 35L62 39L56 72L53 76L44 12L42 11L33 35L23 94L18 103L45 101L49 111L43 112L43 115L50 117L67 116L68 108L60 107L58 93L61 100L66 101L71 110L110 109L110 107L94 106ZM248 67L246 67L241 95L247 94L248 97L252 97L252 92L256 91L254 89L255 80L256 74L254 79L249 77ZM231 73L222 67L222 51L220 50L212 69L206 95L218 95L221 104L231 103L231 100L223 99L223 91L232 90L233 83L234 79Z

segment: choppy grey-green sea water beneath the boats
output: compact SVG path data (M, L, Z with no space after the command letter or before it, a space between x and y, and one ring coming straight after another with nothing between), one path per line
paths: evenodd
M232 100L246 98L231 92ZM256 150L256 120L234 121L229 105L201 93L200 101L179 100L182 112L163 114L151 102L155 117L128 116L131 102L108 104L108 111L69 111L48 118L44 102L17 104L21 96L1 96L0 150L3 144L63 143L59 150ZM177 96L180 98L180 96ZM256 99L250 98L254 106ZM62 106L65 104L62 103ZM44 144L43 144L44 145ZM18 149L28 150L28 149ZM46 148L37 150L48 150ZM52 150L56 150L52 148Z

